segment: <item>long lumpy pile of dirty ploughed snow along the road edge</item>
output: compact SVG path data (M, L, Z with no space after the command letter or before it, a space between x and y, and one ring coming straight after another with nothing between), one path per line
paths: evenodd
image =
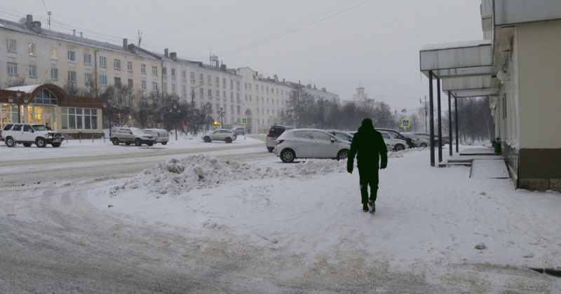
M274 169L235 160L217 160L209 155L192 155L179 160L171 158L144 169L133 179L111 188L110 193L145 187L152 193L178 195L192 189L217 187L230 181L272 179L279 176L302 178L331 172L346 172L346 160L311 160Z

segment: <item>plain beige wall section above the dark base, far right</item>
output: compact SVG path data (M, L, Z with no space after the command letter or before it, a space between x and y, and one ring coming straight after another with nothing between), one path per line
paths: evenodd
M516 30L520 148L561 148L561 21Z

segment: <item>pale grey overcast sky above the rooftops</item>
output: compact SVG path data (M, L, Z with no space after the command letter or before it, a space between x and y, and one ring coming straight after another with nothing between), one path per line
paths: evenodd
M163 54L229 68L249 66L327 88L342 100L362 85L392 109L412 111L428 95L419 71L423 45L482 39L480 0L18 0L0 18L32 14L44 29L123 38ZM435 104L436 107L436 104ZM447 97L442 95L447 109Z

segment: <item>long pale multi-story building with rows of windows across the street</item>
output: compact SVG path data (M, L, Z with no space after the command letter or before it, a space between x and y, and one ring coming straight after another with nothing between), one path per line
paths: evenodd
M76 35L75 31L63 34L42 29L41 22L34 22L31 15L27 15L25 23L0 20L0 32L6 40L6 50L0 50L0 62L6 64L6 71L0 71L0 89L15 91L27 89L19 87L22 85L43 85L33 89L50 92L49 97L54 98L41 100L50 104L32 99L23 109L24 116L34 123L46 123L44 116L33 113L49 113L50 125L65 132L101 132L104 101L97 96L111 86L126 86L133 93L146 96L172 97L196 107L210 103L215 121L229 126L248 118L246 127L252 133L264 132L275 123L290 99L291 87L285 80L280 81L276 76L264 78L248 67L227 69L226 65L218 64L215 56L210 58L210 64L203 64L178 58L177 53L168 49L163 54L149 52L129 44L127 39L123 39L122 45L112 45L85 38L82 33ZM317 97L338 99L325 89L317 91L314 86L308 90L318 92L314 94ZM25 92L25 95L34 93ZM63 102L59 96L74 99ZM7 97L0 98L7 100ZM74 108L83 107L63 109L70 100ZM133 105L131 99L116 103ZM86 110L86 104L95 111ZM78 121L83 117L73 116L76 122L61 121L71 119L62 116L69 112L95 112L96 124L90 126L92 130L81 130L83 123ZM4 104L1 113L6 123L18 116L18 109Z

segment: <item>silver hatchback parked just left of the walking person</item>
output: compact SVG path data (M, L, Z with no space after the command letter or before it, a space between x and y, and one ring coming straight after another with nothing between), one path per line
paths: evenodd
M296 158L334 158L344 160L349 156L351 144L324 130L285 130L276 140L275 155L283 162Z

